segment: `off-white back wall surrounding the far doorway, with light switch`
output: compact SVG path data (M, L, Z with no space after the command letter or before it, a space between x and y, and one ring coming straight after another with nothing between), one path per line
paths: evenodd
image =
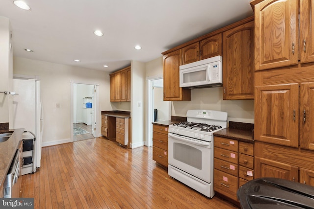
M77 83L99 83L100 111L112 110L107 72L14 57L13 73L40 77L41 99L44 106L43 146L63 143L71 137L70 80ZM60 104L60 108L56 107L56 103ZM101 113L96 114L101 121ZM98 129L100 128L101 122Z

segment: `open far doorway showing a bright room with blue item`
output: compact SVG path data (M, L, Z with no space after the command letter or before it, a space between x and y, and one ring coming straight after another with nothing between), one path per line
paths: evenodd
M98 85L71 82L71 139L98 137Z

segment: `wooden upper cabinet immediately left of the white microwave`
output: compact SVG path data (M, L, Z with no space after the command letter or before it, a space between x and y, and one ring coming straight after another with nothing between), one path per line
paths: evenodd
M179 66L182 65L182 49L163 56L163 100L190 101L191 90L180 88Z

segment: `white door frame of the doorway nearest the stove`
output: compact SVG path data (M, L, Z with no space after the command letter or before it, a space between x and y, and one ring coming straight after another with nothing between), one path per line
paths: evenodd
M147 96L147 121L148 121L148 127L147 127L147 133L146 133L146 139L145 140L145 146L152 146L153 145L153 118L154 118L154 94L153 94L153 81L163 79L163 75L154 75L154 76L148 76L146 77L147 80L147 87L148 87L148 96ZM169 120L171 119L171 102L169 102Z

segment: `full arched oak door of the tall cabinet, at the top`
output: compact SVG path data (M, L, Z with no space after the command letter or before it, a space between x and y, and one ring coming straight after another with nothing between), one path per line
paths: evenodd
M255 70L298 64L298 0L255 5Z

